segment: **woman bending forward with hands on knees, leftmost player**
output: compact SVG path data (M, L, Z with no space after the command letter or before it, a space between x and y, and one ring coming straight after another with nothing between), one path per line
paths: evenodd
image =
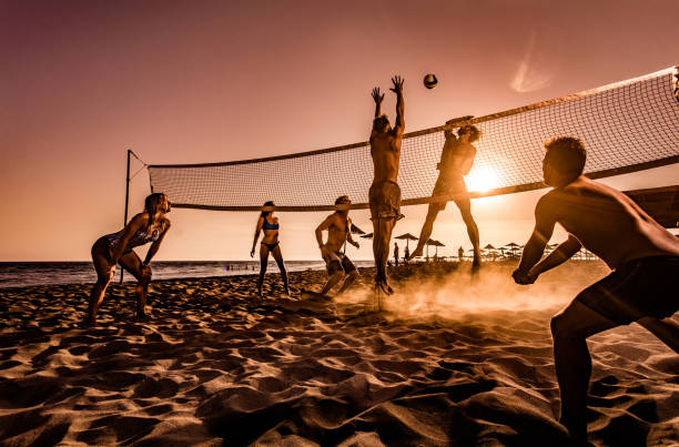
M136 278L136 317L146 319L146 293L151 282L151 267L149 263L158 253L168 230L170 221L165 214L170 212L170 202L163 193L146 196L144 211L136 214L118 233L107 234L92 245L92 262L97 271L97 283L90 293L88 316L85 324L97 324L97 311L109 283L115 274L115 264L120 264ZM132 248L151 242L151 247L142 262Z

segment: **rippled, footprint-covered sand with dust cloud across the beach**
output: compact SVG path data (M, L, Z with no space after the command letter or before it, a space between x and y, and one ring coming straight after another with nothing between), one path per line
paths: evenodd
M523 288L511 266L467 268L392 268L396 295L368 313L369 270L335 301L282 296L276 275L264 301L253 276L159 281L148 323L112 285L95 328L89 285L1 289L0 443L568 445L549 319L605 267ZM679 445L679 356L636 324L589 346L590 441Z

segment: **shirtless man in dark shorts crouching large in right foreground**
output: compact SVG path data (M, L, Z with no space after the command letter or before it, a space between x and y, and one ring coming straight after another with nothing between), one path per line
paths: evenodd
M637 322L679 353L679 324L670 318L679 309L679 240L627 195L582 175L586 151L580 140L559 136L545 149L543 173L554 190L537 203L535 230L514 280L533 284L582 246L612 268L551 319L560 423L584 441L591 374L588 337ZM557 222L568 240L540 261Z

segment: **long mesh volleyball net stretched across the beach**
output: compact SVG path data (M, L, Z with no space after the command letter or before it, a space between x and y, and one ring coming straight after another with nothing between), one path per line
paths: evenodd
M592 179L679 163L677 70L465 121L483 131L466 177L470 196L545 187L544 143L558 135L585 143L585 173ZM445 129L404 135L403 205L432 201ZM352 209L367 207L373 163L369 143L361 142L256 160L152 164L149 174L152 191L168 194L174 207L255 211L273 201L278 211L323 211L344 194Z

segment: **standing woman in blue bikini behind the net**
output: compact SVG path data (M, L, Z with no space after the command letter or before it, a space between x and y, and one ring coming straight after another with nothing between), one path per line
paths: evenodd
M264 203L265 207L274 207L273 202ZM254 257L255 247L257 246L257 241L260 240L260 233L264 232L264 237L262 237L262 242L260 242L260 278L257 280L257 294L260 297L264 297L264 293L262 292L262 286L264 285L264 274L266 273L266 266L268 265L268 253L271 253L278 265L278 270L281 271L281 277L283 278L283 286L285 287L285 293L290 295L290 285L287 283L287 271L285 270L285 264L283 263L283 254L281 253L281 245L278 244L278 217L274 217L273 210L271 211L262 211L260 214L260 219L257 220L257 225L255 227L254 240L252 241L252 251L250 252L250 257ZM254 270L254 266L253 266Z

